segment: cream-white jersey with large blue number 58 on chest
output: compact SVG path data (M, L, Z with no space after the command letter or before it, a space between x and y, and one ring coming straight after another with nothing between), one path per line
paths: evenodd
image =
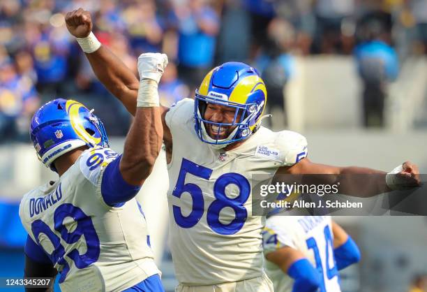
M306 139L261 127L231 151L213 149L197 138L190 98L170 108L166 123L173 139L167 198L177 279L191 286L261 277L265 217L252 215L252 187L305 157Z

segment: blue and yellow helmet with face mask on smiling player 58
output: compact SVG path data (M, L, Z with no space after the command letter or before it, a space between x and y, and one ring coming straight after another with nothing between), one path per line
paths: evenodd
M232 123L217 123L204 119L208 103L226 105L235 108ZM267 103L267 89L255 68L240 62L227 62L213 68L202 81L195 94L195 131L204 143L214 148L223 148L227 144L248 138L261 124L262 112ZM239 114L240 118L239 118ZM212 138L206 131L206 125L220 128L235 126L227 138Z

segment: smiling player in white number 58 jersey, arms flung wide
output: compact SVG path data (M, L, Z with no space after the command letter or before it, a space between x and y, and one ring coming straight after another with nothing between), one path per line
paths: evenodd
M89 34L89 12L68 13L66 24L77 41L97 42ZM133 73L103 45L86 57L100 82L135 114L138 83ZM195 99L163 107L177 291L273 291L263 270L265 217L252 214L251 185L268 184L276 173L385 176L379 170L306 159L304 136L260 125L266 102L267 89L257 71L228 62L206 75ZM417 183L417 166L406 162L400 168L407 182ZM340 182L342 189L345 185Z

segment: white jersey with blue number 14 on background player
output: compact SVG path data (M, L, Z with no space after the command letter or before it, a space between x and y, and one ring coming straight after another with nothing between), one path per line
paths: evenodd
M320 292L340 292L334 260L334 234L330 216L283 216L267 219L262 233L264 254L282 247L301 251L320 273ZM290 292L294 280L278 265L265 261L267 275L276 292Z

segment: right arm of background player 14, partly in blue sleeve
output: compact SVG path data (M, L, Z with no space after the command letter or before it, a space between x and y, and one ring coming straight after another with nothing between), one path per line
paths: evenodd
M334 258L338 270L358 263L361 254L356 242L334 221L332 221L332 233L334 233Z

